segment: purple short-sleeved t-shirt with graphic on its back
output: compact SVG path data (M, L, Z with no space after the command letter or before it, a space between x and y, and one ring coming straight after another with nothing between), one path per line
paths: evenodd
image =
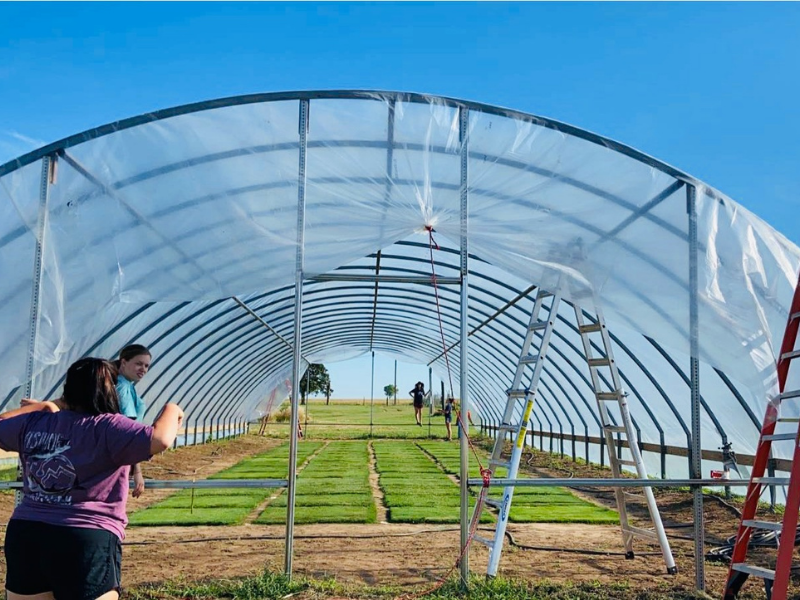
M125 538L130 465L150 459L153 428L120 414L34 412L0 421L0 448L19 452L22 503L12 519Z

